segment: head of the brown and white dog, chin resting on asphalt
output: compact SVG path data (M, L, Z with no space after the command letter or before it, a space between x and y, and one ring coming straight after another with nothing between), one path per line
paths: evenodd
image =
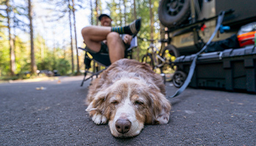
M97 92L86 111L102 113L114 137L134 137L144 124L167 123L170 103L153 82L122 78Z

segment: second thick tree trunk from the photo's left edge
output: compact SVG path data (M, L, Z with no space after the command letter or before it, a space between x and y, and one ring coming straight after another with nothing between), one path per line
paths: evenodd
M34 60L34 37L33 37L33 18L31 0L29 0L29 27L30 27L30 45L31 45L31 74L37 72L36 62Z

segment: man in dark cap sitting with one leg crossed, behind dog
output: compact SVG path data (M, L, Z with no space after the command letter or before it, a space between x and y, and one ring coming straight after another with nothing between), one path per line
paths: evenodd
M129 48L132 37L140 31L141 19L135 20L124 27L112 27L109 15L99 15L101 26L87 26L81 33L86 47L96 53L109 53L110 62L124 58L124 51ZM123 39L120 37L123 35Z

